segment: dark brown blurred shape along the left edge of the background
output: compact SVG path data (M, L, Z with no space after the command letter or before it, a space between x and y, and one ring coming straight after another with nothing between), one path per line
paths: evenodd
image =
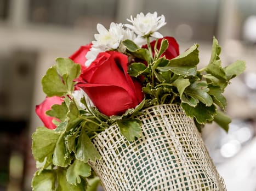
M0 59L0 190L24 190L36 60L21 49Z

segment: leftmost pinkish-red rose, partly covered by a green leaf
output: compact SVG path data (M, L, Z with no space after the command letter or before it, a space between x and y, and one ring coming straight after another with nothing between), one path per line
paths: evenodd
M53 120L58 120L55 117L50 117L45 114L46 111L50 110L52 108L52 105L58 104L61 105L61 103L64 102L64 100L61 97L53 96L53 97L46 97L45 100L36 106L36 114L43 122L44 126L48 129L55 129L56 126L53 124Z

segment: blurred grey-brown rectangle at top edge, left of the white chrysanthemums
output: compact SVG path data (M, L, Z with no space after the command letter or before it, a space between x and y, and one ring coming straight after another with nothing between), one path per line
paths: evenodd
M30 0L29 20L33 23L75 26L95 19L115 21L117 0ZM104 21L103 21L104 22Z

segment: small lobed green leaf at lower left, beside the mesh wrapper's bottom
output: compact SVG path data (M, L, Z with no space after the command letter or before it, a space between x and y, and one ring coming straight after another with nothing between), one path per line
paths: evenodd
M89 177L91 175L91 168L88 163L84 163L80 160L75 160L73 164L67 169L67 182L70 184L81 183L81 177Z

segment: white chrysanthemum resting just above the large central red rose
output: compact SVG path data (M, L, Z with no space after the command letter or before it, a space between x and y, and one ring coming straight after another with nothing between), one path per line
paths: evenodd
M89 66L100 52L105 52L107 50L118 50L119 52L126 51L126 48L121 44L122 40L134 40L136 38L133 31L123 28L122 23L117 24L112 22L109 30L103 25L98 24L97 30L99 34L94 35L95 41L92 41L92 48L86 55L86 66Z

